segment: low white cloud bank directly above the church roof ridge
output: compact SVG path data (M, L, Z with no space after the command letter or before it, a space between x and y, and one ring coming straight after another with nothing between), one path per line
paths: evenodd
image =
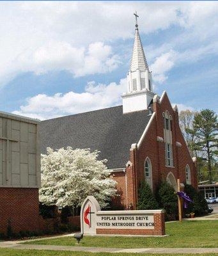
M126 83L126 79L121 79L119 84L108 85L91 81L83 93L38 94L26 99L26 105L20 106L13 114L44 120L118 105Z

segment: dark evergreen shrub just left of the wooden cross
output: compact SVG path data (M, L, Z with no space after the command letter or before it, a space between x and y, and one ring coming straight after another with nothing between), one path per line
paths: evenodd
M159 207L166 211L166 220L176 220L178 216L178 198L173 187L167 182L161 182L156 191Z

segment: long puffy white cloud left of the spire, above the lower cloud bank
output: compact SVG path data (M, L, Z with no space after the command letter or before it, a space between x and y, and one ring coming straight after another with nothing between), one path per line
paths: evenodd
M10 68L1 68L0 65L0 70L1 76L5 75L4 79L19 72L42 74L51 70L68 70L78 77L111 72L120 63L111 46L102 42L90 44L86 51L84 47L76 48L66 42L50 41L37 49L21 52L13 63L10 63Z

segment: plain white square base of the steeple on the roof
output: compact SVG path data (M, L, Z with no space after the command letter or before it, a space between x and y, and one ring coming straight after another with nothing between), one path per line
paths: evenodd
M123 114L148 109L154 95L148 90L123 94Z

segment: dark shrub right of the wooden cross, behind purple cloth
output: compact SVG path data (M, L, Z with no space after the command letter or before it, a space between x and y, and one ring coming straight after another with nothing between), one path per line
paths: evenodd
M191 185L185 184L185 193L193 200L193 203L188 204L188 208L185 209L185 214L194 212L196 216L201 216L208 212L208 205L205 198Z

